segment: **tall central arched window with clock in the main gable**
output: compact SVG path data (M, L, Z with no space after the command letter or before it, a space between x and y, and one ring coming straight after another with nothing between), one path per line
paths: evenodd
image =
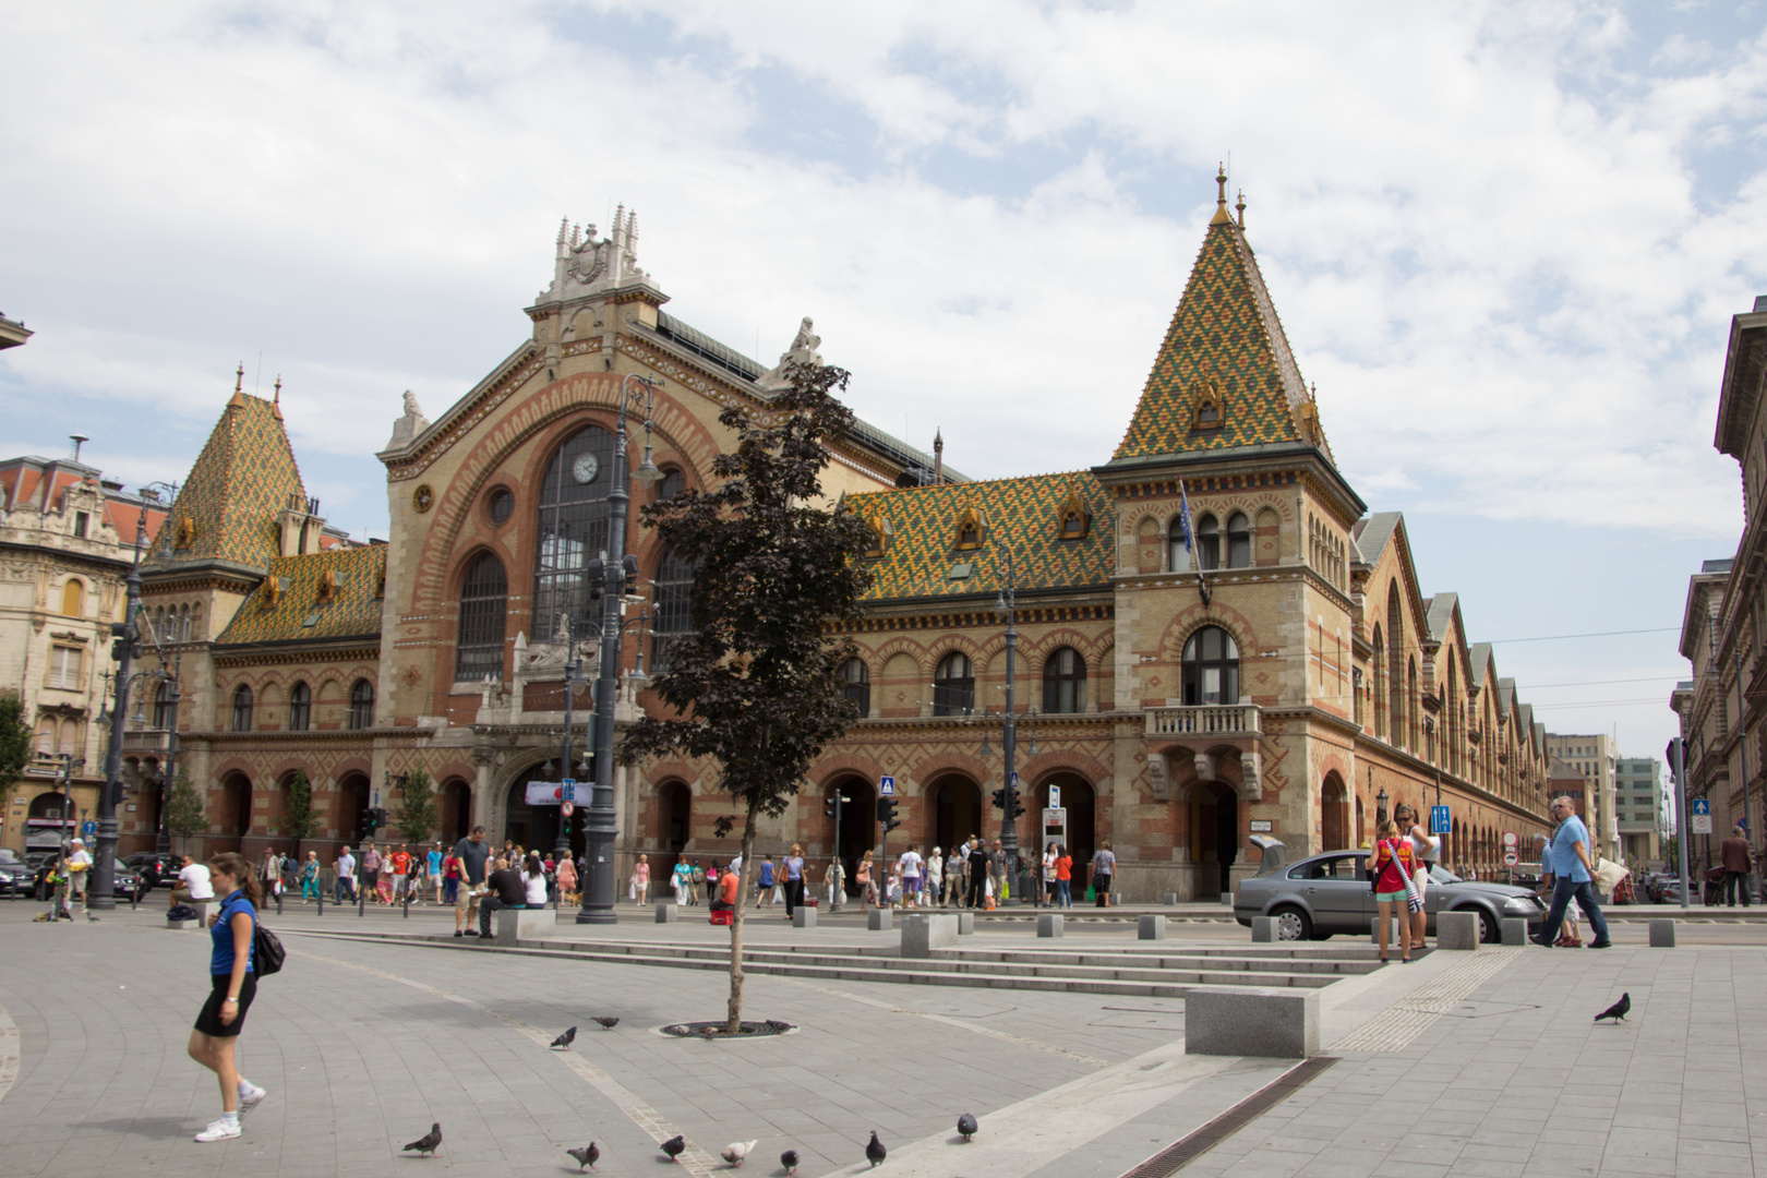
M608 547L611 487L613 434L601 426L565 438L546 466L535 530L534 634L557 634L558 615L588 606L583 570Z

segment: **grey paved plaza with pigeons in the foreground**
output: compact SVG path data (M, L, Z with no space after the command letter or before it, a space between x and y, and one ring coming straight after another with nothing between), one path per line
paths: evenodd
M270 1090L237 1141L191 1136L217 1107L184 1056L205 993L209 938L157 908L97 924L34 924L0 904L0 1173L458 1174L574 1173L565 1146L595 1139L606 1174L671 1173L657 1143L684 1134L693 1174L758 1139L747 1171L864 1173L875 1129L885 1174L1119 1178L1290 1070L1290 1061L1186 1056L1184 1001L818 982L755 975L746 1016L797 1031L753 1042L677 1040L664 1023L723 1014L712 970L456 952L385 940L451 929L445 911L290 908L290 961L265 978L242 1074ZM719 943L701 924L560 938ZM1698 913L1695 913L1698 915ZM371 933L375 938L343 936ZM1182 1174L1767 1174L1767 927L1686 925L1652 950L1617 947L1430 954L1322 991L1336 1063L1249 1118ZM857 922L749 924L749 941L829 948L894 943ZM1232 924L1175 925L1168 948L1246 945ZM1074 925L1067 948L1134 945L1133 927ZM982 924L974 948L1035 948L1025 925ZM1050 941L1043 941L1050 947ZM1322 950L1348 950L1338 938ZM1631 993L1627 1024L1590 1016ZM603 1031L594 1014L620 1024ZM548 1051L565 1026L576 1049ZM958 1143L959 1113L981 1118ZM444 1129L435 1160L399 1146ZM1756 1155L1760 1162L1756 1162Z

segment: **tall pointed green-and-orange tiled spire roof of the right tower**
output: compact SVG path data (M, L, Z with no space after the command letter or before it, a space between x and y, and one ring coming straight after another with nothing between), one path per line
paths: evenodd
M1286 442L1332 461L1246 228L1226 210L1226 173L1216 182L1214 219L1115 459Z

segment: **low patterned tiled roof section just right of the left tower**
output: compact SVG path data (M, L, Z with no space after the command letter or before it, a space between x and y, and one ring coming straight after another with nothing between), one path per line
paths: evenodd
M385 576L385 544L272 556L269 576L240 602L216 641L221 646L334 638L378 643Z

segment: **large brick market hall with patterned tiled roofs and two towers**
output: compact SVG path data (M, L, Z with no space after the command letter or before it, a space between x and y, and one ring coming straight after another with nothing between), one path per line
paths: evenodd
M207 791L210 827L193 842L288 850L281 791L300 770L323 812L307 846L330 858L360 835L364 807L391 805L398 777L422 768L444 839L482 823L498 842L553 844L558 807L530 807L527 784L594 772L588 683L573 699L576 765L560 763L560 615L606 546L622 389L636 394L627 468L648 452L659 472L633 484L645 600L627 611L622 671L643 659L654 673L691 627L693 570L636 526L636 507L705 486L732 445L724 406L765 413L788 360L820 360L809 320L767 369L666 302L638 267L633 215L606 238L562 226L532 336L435 420L406 394L378 454L385 544L334 542L283 404L235 390L145 565L147 606L193 618L164 648L182 683L178 763ZM648 431L629 378L661 381ZM1422 593L1403 519L1368 514L1338 470L1225 196L1122 443L1074 466L968 480L942 443L928 454L861 424L839 445L825 489L873 532L845 675L864 719L765 825L770 850L800 842L852 867L876 842L885 774L905 819L892 848L998 832L993 604L1009 563L1025 848L1051 788L1076 862L1110 839L1129 899L1219 894L1256 869L1255 832L1290 857L1366 842L1380 800L1440 793L1444 858L1481 874L1498 869L1502 832L1546 828L1544 728L1468 641L1456 595ZM592 680L595 643L581 653ZM657 705L622 678L613 706L624 726ZM152 721L129 733L131 779L152 797L124 853L154 839L163 786L141 766L166 735ZM714 765L617 766L613 782L622 881L640 853L735 853L714 834L733 812ZM834 789L852 798L839 830L823 812ZM578 850L583 818L569 819Z

